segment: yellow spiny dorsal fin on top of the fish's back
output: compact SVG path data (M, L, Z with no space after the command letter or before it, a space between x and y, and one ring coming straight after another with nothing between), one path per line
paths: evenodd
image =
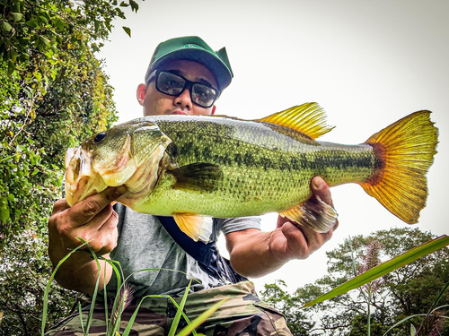
M260 121L293 129L312 139L316 139L334 128L326 125L326 113L317 103L305 103L288 108L285 111L266 116Z

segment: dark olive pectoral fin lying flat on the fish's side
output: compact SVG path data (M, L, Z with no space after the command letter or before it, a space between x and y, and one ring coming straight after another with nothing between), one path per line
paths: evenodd
M190 189L199 192L213 192L223 178L220 167L211 163L192 163L170 171L175 178L175 189Z

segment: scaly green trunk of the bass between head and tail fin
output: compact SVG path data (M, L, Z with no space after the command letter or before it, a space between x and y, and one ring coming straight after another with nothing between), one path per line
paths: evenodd
M365 181L375 170L374 150L366 144L316 142L295 132L282 134L269 124L220 116L145 119L172 140L168 162L175 167L207 163L219 172L210 189L196 189L176 187L177 178L163 169L153 193L133 204L136 211L216 218L282 212L310 198L315 176L339 185Z

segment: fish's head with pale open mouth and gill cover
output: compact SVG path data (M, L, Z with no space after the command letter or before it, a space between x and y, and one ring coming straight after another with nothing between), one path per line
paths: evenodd
M137 191L151 192L148 189L155 185L159 162L170 142L158 125L141 118L96 134L77 148L69 148L67 204L72 206L109 186L126 185L128 196Z

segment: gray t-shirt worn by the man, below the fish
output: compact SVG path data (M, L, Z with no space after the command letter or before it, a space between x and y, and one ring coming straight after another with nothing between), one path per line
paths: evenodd
M190 289L194 291L225 285L223 280L202 271L198 262L178 246L156 217L132 211L119 203L114 208L119 214L119 239L110 257L120 263L125 279L130 276L128 284L135 297L181 295L191 278L200 281L192 282ZM220 232L227 234L246 228L260 229L260 218L215 219L210 240L216 241ZM140 271L150 268L178 271ZM133 274L135 271L139 272ZM117 279L113 275L108 289L116 288Z

